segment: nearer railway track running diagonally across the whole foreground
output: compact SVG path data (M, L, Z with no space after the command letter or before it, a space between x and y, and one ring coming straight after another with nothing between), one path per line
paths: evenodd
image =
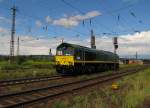
M74 91L94 86L96 84L105 83L114 79L121 78L123 76L136 73L145 69L146 67L138 67L136 69L130 69L128 71L120 71L111 75L97 76L94 78L74 81L70 83L57 84L45 88L39 88L29 91L23 91L13 94L0 96L0 108L14 108L24 107L25 105L33 104L34 102L41 102L46 99L55 98L61 95L72 93Z

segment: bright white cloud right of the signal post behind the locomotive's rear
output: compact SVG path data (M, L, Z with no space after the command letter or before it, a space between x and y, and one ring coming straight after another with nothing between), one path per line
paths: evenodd
M150 31L121 36L119 41L120 48L118 52L121 55L135 55L136 52L141 55L149 55Z

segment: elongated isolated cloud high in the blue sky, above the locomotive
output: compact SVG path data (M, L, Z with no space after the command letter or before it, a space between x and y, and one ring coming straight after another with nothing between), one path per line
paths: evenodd
M75 27L78 26L78 24L80 23L80 21L86 20L86 19L90 19L90 18L94 18L101 15L101 13L99 11L91 11L91 12L87 12L84 15L74 15L74 16L64 16L63 18L60 19L55 19L52 20L49 16L46 17L46 22L50 22L50 24L53 25L58 25L58 26L63 26L65 28L70 28L70 27Z

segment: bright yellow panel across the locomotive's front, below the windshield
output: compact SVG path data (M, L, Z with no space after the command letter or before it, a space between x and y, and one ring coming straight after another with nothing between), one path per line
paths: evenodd
M55 56L56 65L74 65L74 56Z

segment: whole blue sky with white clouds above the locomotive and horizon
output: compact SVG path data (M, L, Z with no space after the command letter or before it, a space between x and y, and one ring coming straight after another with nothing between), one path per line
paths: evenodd
M16 6L16 34L21 55L55 54L65 42L90 47L90 31L97 49L113 52L117 36L121 57L150 58L149 0L0 0L0 54L8 55L12 6Z

